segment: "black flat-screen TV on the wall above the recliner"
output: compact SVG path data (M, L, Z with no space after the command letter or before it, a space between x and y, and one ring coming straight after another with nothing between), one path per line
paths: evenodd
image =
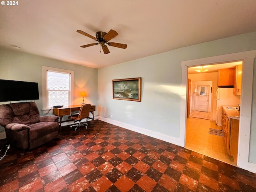
M39 99L38 83L0 79L0 102Z

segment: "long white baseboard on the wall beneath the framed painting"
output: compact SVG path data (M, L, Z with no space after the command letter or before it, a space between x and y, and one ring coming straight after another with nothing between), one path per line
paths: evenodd
M163 140L163 141L175 144L175 145L180 144L179 138L174 138L174 137L171 137L171 136L159 133L159 132L155 132L155 131L148 130L145 128L140 128L140 127L133 126L130 124L122 123L122 122L119 122L116 120L112 120L110 118L101 118L100 116L98 116L98 117L99 117L99 120L101 120L101 121L104 121L104 122L107 122L107 123L110 123L110 124L113 124L113 125L116 125L116 126L128 129L128 130L132 130L132 131L135 131L135 132L138 132L138 133L141 133L141 134L144 134L144 135L156 138L156 139L160 139L160 140Z

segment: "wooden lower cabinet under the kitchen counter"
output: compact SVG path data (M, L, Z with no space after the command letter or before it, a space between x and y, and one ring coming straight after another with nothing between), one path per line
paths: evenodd
M237 162L239 120L228 118L225 110L223 110L222 129L224 130L224 141L227 152L233 156L234 162Z

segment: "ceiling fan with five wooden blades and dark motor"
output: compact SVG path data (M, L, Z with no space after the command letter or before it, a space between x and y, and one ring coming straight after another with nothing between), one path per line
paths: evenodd
M109 46L113 46L113 47L122 48L122 49L127 48L127 45L126 45L126 44L108 42L108 41L110 41L112 38L114 38L115 36L118 35L118 33L117 33L115 30L112 30L112 29L110 29L110 31L109 31L108 33L102 32L102 31L96 32L96 37L94 37L94 36L92 36L92 35L89 35L88 33L83 32L83 31L81 31L81 30L77 30L76 32L78 32L78 33L80 33L80 34L82 34L82 35L85 35L85 36L87 36L87 37L90 37L90 38L92 38L92 39L98 41L98 43L91 43L91 44L87 44L87 45L82 45L82 46L80 46L80 47L83 47L83 48L100 44L101 47L102 47L102 50L103 50L104 54L110 53L110 51L108 50L108 47L107 47L105 44L108 44Z

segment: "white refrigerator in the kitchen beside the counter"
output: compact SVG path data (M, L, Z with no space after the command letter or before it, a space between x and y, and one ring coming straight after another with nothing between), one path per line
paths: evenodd
M240 96L233 94L233 88L218 88L216 91L216 124L222 126L222 106L234 106L240 103Z

